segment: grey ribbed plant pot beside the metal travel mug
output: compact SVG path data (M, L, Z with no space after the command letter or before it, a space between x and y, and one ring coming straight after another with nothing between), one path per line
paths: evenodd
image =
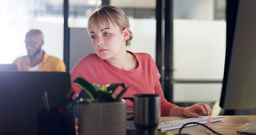
M79 103L79 135L126 135L126 103Z

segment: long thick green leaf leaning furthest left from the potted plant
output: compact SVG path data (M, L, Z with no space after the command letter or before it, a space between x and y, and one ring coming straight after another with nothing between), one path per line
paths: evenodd
M91 83L87 82L83 78L75 79L74 83L77 83L84 91L88 93L89 96L93 98L93 100L95 100L97 93L95 87L93 87Z

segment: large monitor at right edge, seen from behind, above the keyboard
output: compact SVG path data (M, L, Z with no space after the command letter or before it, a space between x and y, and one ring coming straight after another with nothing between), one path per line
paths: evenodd
M256 1L227 0L227 42L220 106L256 109Z

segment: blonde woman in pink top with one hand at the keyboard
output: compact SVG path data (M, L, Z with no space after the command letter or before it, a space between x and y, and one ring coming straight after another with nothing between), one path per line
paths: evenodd
M156 94L161 96L161 116L198 117L210 115L206 104L178 107L170 104L163 95L159 82L160 74L152 57L147 53L133 53L126 46L133 38L129 20L124 12L114 6L104 6L93 12L88 19L88 32L96 54L84 56L71 71L71 80L77 77L90 83L104 86L110 83L124 83L129 86L123 97L134 94ZM72 84L75 95L82 89ZM120 91L117 89L116 91ZM127 100L127 107L133 103Z

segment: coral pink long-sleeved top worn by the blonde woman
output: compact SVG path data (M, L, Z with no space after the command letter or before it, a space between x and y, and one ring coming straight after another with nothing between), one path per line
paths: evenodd
M134 70L123 70L111 65L107 60L102 60L96 53L84 56L71 71L71 81L77 77L86 79L90 83L100 84L100 87L111 83L124 83L129 86L123 97L133 97L135 94L156 94L161 96L161 116L169 116L170 104L163 95L159 82L160 74L152 57L147 53L133 53L138 60L138 68ZM75 95L82 89L72 83ZM122 88L116 89L116 92ZM127 107L133 108L133 103L127 100Z

